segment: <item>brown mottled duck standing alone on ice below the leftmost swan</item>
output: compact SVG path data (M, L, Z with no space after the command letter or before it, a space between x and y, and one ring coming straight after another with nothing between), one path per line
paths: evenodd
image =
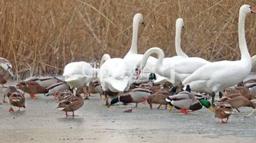
M68 112L72 111L73 114L71 116L75 116L74 111L81 108L84 103L83 97L81 96L82 92L82 88L77 89L76 96L70 96L64 101L61 101L57 106L57 109L66 111L66 116L70 116L68 115Z

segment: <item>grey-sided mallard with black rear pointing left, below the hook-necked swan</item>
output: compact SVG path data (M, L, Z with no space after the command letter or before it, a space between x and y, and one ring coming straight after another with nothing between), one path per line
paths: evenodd
M150 90L146 89L132 89L129 92L124 92L122 95L115 97L111 100L110 105L108 108L115 104L118 103L119 101L122 103L136 103L135 108L138 107L138 103L144 102L148 99L148 96L150 96Z

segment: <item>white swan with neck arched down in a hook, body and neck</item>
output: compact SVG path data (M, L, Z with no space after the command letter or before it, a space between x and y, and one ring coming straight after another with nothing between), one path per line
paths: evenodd
M190 74L196 71L203 65L210 63L202 58L190 57L190 58L180 58L180 59L171 59L164 58L164 52L159 47L152 47L148 49L143 59L138 63L139 70L143 69L146 63L146 60L151 54L157 54L157 62L155 64L155 70L162 77L171 78L173 82L180 83Z

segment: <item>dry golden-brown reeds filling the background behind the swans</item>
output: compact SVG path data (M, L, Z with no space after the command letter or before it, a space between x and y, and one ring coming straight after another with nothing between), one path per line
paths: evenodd
M183 51L211 61L239 59L238 0L1 0L0 56L17 78L61 74L71 61L123 57L131 46L132 18L142 13L138 51L161 47L174 56L175 20L182 17ZM246 18L246 40L255 47L256 15Z

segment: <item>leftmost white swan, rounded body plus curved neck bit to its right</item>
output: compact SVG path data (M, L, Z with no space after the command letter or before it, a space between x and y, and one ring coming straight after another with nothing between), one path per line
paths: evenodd
M104 54L101 58L101 65L110 59L109 54ZM93 68L85 61L72 62L65 66L63 76L65 82L71 87L80 88L83 85L89 86L91 80L96 77L99 69Z

